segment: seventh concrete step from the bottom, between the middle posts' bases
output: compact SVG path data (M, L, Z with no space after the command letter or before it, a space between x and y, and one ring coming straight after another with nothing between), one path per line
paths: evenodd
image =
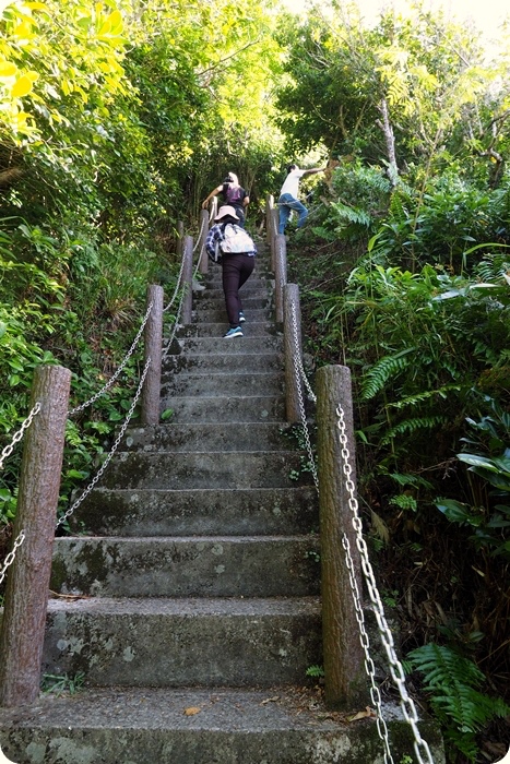
M274 395L249 395L213 397L166 395L161 401L161 410L171 409L171 421L180 422L249 422L283 421L285 399Z

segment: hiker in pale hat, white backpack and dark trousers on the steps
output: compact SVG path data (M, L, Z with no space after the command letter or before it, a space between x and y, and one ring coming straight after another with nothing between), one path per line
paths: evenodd
M205 249L212 260L215 260L216 253L221 253L223 294L230 324L224 337L232 339L242 337L241 323L245 323L246 318L239 298L239 288L253 271L257 247L248 234L240 228L236 210L229 204L220 207L214 223L215 225L207 234ZM237 239L235 243L233 243L234 239ZM239 247L246 248L246 251L239 251ZM223 248L230 248L234 252L225 252Z

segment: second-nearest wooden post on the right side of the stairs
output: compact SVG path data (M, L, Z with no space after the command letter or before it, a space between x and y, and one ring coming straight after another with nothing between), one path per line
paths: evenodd
M283 287L283 344L285 358L285 414L287 421L300 422L299 399L303 396L303 381L296 375L294 358L301 351L301 308L297 284Z

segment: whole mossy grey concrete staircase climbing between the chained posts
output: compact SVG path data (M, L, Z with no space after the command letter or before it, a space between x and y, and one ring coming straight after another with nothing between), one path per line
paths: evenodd
M85 685L0 709L16 764L383 762L375 720L328 712L306 678L322 660L318 502L284 423L263 259L244 337L222 336L220 268L206 284L164 365L170 419L128 430L73 518L85 532L56 539L43 672ZM392 715L396 764L412 735Z

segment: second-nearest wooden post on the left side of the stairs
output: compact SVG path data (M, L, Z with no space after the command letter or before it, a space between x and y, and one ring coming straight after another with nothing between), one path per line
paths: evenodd
M157 425L159 421L159 397L162 386L163 347L163 287L152 284L147 288L147 310L152 309L145 324L144 368L151 358L142 390L142 425Z

